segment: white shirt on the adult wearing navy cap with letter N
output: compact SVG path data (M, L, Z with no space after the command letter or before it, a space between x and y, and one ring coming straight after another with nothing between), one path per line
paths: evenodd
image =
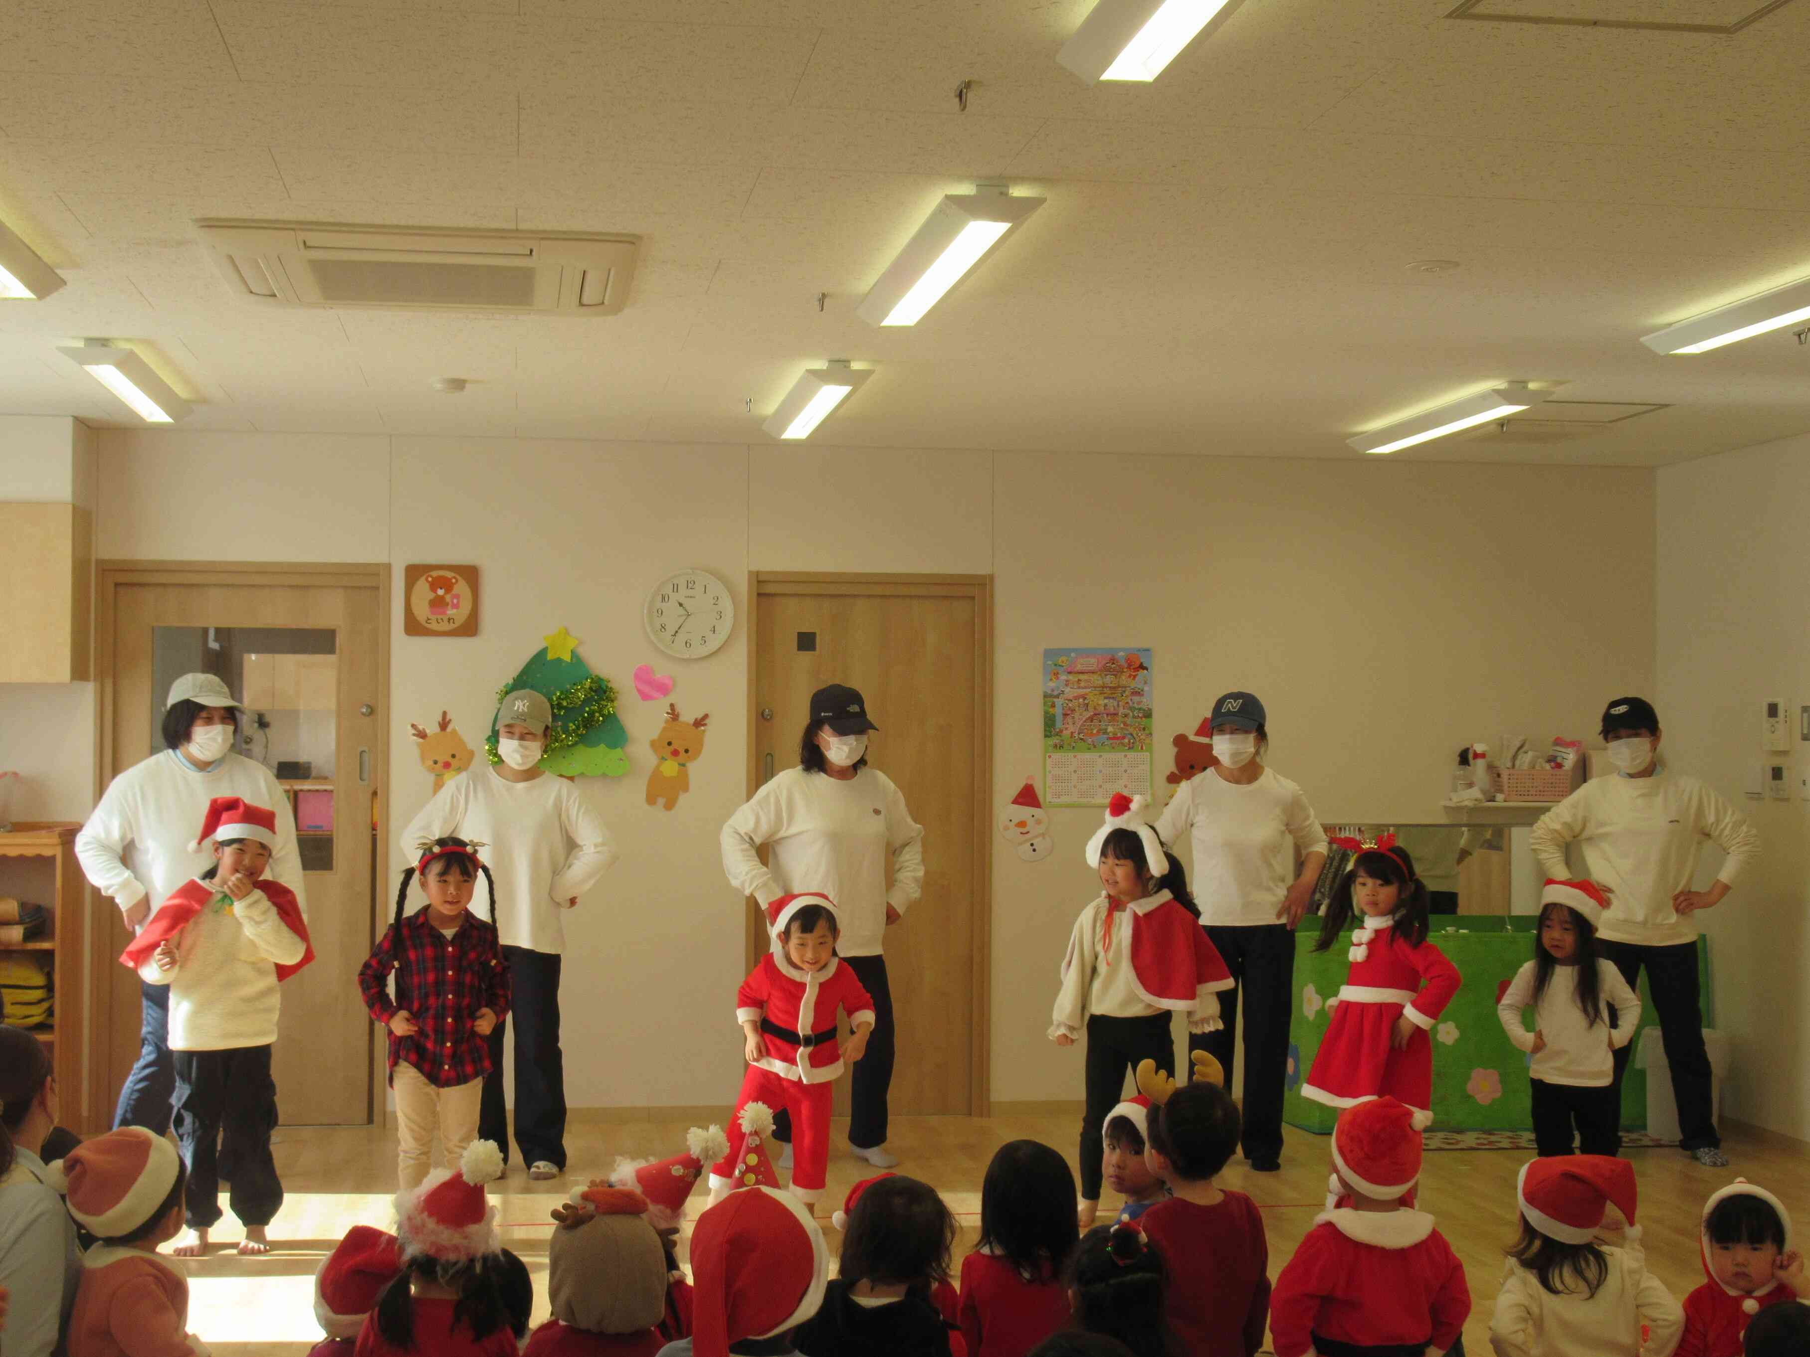
M1189 883L1209 926L1276 923L1294 885L1294 854L1327 850L1314 807L1274 769L1247 785L1213 769L1184 782L1157 820L1157 834L1175 850L1184 830L1195 845Z

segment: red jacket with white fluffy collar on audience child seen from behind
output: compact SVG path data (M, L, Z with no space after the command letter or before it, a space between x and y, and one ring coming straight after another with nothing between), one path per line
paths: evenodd
M1269 1337L1276 1357L1309 1357L1316 1335L1441 1357L1468 1314L1464 1265L1424 1210L1327 1210L1276 1277Z

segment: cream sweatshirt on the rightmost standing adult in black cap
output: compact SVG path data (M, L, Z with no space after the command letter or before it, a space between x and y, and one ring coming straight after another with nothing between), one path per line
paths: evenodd
M1651 778L1596 778L1540 816L1528 836L1549 878L1569 878L1566 845L1584 852L1584 870L1615 896L1602 916L1611 943L1694 943L1691 916L1672 896L1691 890L1705 843L1727 861L1716 878L1734 885L1759 854L1759 832L1696 778L1660 769Z

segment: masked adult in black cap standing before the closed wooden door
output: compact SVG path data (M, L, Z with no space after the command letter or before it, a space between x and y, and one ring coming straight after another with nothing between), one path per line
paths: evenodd
M849 1143L876 1169L891 1169L898 1163L885 1149L892 992L881 944L887 926L923 892L923 827L910 818L892 780L867 767L867 733L878 729L856 689L820 688L811 695L811 718L798 740L798 767L769 778L729 816L720 843L729 885L762 908L800 890L818 890L836 903L842 914L836 955L874 999L874 1035L867 1055L854 1064ZM760 845L771 845L767 865L760 861ZM789 1136L784 1120L776 1136Z

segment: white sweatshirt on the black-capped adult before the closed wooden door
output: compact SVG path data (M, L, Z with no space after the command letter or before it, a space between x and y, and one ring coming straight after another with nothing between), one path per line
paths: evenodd
M845 957L880 955L887 905L905 914L923 894L923 825L878 769L863 767L847 782L786 769L729 816L719 841L729 885L762 908L800 890L836 901L836 950ZM771 845L767 867L757 852L762 843Z

